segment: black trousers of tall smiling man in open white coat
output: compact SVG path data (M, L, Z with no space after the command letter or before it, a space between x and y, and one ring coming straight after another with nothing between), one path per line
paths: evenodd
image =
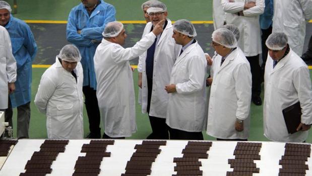
M147 89L148 89L148 98L147 98L147 112L150 113L151 97L152 97L152 87L153 79L147 78ZM168 126L166 124L166 119L157 118L156 116L150 116L150 123L152 127L152 134L149 135L148 139L169 139Z

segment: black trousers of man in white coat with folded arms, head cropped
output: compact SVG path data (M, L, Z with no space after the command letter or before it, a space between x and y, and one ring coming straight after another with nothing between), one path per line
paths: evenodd
M246 56L251 72L252 72L252 97L260 96L261 94L261 70L259 66L259 54L255 56Z

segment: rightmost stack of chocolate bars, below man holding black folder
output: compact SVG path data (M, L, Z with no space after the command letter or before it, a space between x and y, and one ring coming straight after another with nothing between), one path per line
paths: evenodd
M307 158L310 157L310 144L285 144L285 152L279 164L282 168L279 169L279 176L301 176L305 175L305 170L308 170L308 165L305 164Z

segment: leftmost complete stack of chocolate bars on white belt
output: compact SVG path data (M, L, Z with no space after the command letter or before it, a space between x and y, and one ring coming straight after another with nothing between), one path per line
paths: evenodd
M33 153L30 160L25 165L25 173L21 173L20 176L44 176L47 173L51 173L51 164L58 153L65 152L65 146L69 143L69 140L45 140L40 146L40 151Z

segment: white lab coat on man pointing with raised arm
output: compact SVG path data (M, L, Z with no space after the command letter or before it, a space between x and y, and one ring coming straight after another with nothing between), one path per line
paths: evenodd
M131 48L102 39L94 55L96 96L105 134L130 137L137 131L135 92L130 60L141 55L154 42L153 32Z

